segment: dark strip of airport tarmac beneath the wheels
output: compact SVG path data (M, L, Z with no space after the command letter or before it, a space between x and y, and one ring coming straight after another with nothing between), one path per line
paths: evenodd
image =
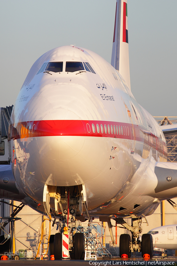
M131 259L113 258L111 260L6 260L0 261L0 266L37 266L37 265L48 265L48 266L102 266L102 265L175 265L177 266L177 257L153 257L150 260L144 260L142 257L136 257Z

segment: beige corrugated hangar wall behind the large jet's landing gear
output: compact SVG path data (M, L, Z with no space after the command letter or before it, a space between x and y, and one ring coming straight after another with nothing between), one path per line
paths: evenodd
M177 198L173 199L174 202L177 202ZM18 205L18 202L14 202L14 205ZM16 235L16 250L19 249L27 249L32 248L35 251L34 246L38 242L38 228L41 227L42 223L42 215L37 213L35 210L32 210L28 206L24 206L24 208L18 213L17 217L22 218L15 222L15 235ZM153 228L162 226L162 207L161 204L150 216L147 216L148 226L145 219L142 219L142 233L148 233ZM131 219L126 218L125 221L131 225ZM98 219L94 219L94 222L99 222ZM111 220L113 225L113 234L114 240L116 240L116 229L115 229L115 221ZM177 211L167 202L165 201L165 225L177 224ZM112 241L109 234L109 228L107 223L105 223L105 246L109 251L114 255L118 256L119 254L119 236L122 233L131 233L124 228L117 227L117 245L116 247L112 247ZM117 225L121 226L121 225ZM49 221L46 221L45 227L47 228L47 236L49 231ZM55 234L55 227L51 227L51 234ZM140 234L142 235L142 234Z

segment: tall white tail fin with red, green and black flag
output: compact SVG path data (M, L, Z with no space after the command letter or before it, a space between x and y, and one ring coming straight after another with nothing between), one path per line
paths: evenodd
M127 0L117 0L111 65L119 71L130 89Z

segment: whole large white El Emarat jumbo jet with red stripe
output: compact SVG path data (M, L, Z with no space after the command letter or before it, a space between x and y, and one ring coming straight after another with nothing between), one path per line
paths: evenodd
M141 220L177 196L177 166L167 163L165 135L130 89L127 0L117 0L111 65L78 46L62 46L32 65L9 122L9 166L1 167L0 197L55 215L55 259L68 230L73 258L84 257L85 218L116 220L120 257L153 256L151 234L139 239ZM132 226L124 218L132 218ZM112 233L111 233L112 236Z

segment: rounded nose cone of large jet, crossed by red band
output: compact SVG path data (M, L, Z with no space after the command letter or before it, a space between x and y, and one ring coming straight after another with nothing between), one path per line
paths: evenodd
M85 141L85 129L76 114L57 108L45 114L42 123L47 132L46 136L37 138L40 153L53 160L67 160L79 153Z

